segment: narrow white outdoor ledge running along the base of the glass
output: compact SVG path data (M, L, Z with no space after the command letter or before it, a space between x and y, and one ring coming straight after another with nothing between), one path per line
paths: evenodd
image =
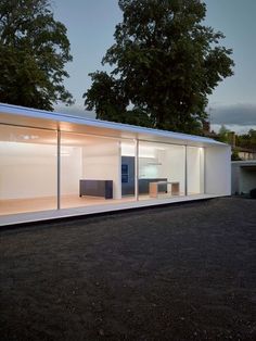
M137 207L163 205L168 203L179 203L185 201L195 201L203 199L217 198L220 195L215 194L193 194L188 197L175 197L168 199L150 199L141 201L127 201L115 204L104 204L104 205L93 205L86 207L73 207L73 209L62 209L62 210L50 210L50 211L40 211L31 213L20 213L12 215L2 215L0 216L0 227L1 226L11 226L17 224L33 223L33 222L43 222L52 220L66 217L75 217L81 215L90 215L104 212L114 212L120 210L129 210Z

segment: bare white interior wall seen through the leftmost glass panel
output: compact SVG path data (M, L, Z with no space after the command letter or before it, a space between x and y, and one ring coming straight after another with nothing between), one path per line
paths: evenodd
M0 199L56 195L56 146L0 142Z

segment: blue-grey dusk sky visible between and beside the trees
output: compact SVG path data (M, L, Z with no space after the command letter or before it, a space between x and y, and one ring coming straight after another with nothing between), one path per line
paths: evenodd
M223 124L239 134L256 129L256 0L206 0L205 25L220 30L221 45L233 50L234 76L226 78L208 97L212 128ZM90 88L89 73L110 71L101 60L114 43L115 26L121 22L118 0L52 0L55 20L67 28L73 62L66 65L65 86L75 104L55 111L94 117L85 111L82 94Z

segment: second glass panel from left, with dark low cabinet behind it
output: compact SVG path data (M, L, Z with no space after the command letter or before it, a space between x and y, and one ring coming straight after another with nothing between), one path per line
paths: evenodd
M117 139L62 132L61 207L120 202L129 184L132 195L132 165L123 164L124 150Z

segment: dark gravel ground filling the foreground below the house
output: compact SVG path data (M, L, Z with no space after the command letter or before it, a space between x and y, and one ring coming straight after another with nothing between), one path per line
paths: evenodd
M256 340L256 200L5 229L0 340Z

